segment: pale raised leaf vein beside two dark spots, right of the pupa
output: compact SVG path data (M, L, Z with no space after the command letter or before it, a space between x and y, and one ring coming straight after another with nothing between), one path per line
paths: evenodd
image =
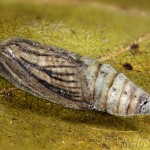
M117 51L115 52L112 52L111 54L108 54L107 56L104 56L104 57L101 57L101 58L98 58L98 62L103 62L103 61L107 61L107 60L110 60L116 56L118 56L119 54L122 54L126 51L129 51L131 49L131 46L133 44L140 44L141 42L145 41L146 39L150 38L150 33L147 33L147 34L144 34L140 37L138 37L135 41L133 41L132 43L126 45L126 46L123 46L121 47L120 49L118 49Z

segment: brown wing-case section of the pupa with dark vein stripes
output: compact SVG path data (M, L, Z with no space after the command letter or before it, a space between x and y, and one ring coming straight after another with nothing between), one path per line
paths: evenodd
M84 109L90 101L81 56L26 39L0 45L0 74L18 87L66 107Z

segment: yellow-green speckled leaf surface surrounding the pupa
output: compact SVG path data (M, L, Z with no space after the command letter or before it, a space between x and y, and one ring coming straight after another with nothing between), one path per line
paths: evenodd
M24 37L96 59L150 32L148 9L146 15L140 15L99 8L83 1L82 5L79 1L67 4L27 2L0 2L1 41ZM137 52L122 53L105 63L124 72L150 93L150 39L143 41ZM133 70L125 69L124 63L131 64ZM150 116L116 117L64 108L16 89L0 78L2 150L147 150L149 134Z

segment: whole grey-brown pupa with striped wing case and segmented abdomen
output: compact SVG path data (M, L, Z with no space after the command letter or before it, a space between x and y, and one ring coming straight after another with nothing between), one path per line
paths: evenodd
M0 44L0 74L29 93L74 109L150 114L150 95L109 64L16 38Z

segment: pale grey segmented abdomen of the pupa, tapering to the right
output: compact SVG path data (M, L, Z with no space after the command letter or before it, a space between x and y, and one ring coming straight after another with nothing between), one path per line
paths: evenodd
M103 64L95 84L95 109L126 116L150 113L149 94L135 86L123 73ZM150 98L149 98L150 99Z

